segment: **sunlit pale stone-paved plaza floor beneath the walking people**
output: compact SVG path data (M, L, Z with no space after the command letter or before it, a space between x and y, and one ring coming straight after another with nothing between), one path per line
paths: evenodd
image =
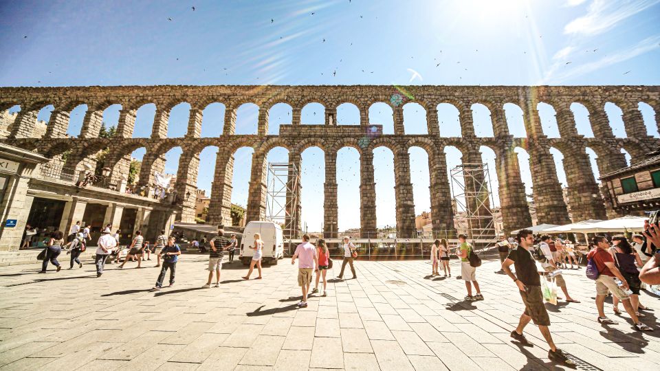
M494 260L477 272L483 302L463 302L456 260L446 279L428 277L426 260L358 260L358 280L331 280L327 297L314 295L301 309L297 267L289 259L265 267L263 280L241 280L244 267L225 264L220 287L201 289L207 261L181 256L175 286L157 292L149 291L159 272L153 261L143 269L133 269L134 262L123 270L109 265L99 279L89 260L83 269L45 275L36 273L38 265L0 268L0 370L556 367L536 326L526 328L533 348L509 337L522 302L511 280L494 273ZM328 277L338 273L336 262ZM584 269L564 276L582 303L547 304L559 348L585 370L659 368L657 297L641 297L656 309L644 318L654 332L635 332L627 316L602 326ZM606 313L615 317L610 300Z

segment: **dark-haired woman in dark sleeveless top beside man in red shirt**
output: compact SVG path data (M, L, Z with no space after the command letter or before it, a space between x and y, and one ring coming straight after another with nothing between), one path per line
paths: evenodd
M630 246L628 240L624 236L614 236L612 238L613 247L610 248L610 254L614 258L614 264L621 272L621 276L624 276L630 291L630 304L632 305L632 310L635 311L637 317L646 317L639 313L639 290L641 289L641 281L639 280L639 270L637 267L642 267L641 257L637 254L637 251ZM619 311L619 298L616 296L612 297L612 304L614 313L617 315L621 314Z

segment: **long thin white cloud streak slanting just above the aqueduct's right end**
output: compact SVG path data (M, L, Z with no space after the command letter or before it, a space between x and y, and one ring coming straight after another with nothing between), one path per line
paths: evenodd
M589 74L593 71L597 71L604 67L608 67L610 65L615 65L617 63L624 62L626 60L635 58L636 56L645 54L647 52L650 52L658 48L660 48L660 35L645 38L636 45L632 45L632 47L629 47L628 49L623 49L620 50L619 52L616 52L615 54L604 56L603 58L600 58L599 60L595 60L594 62L591 63L576 65L572 69L567 69L558 74L554 74L554 73L558 71L558 68L560 67L561 63L555 63L555 65L553 65L553 67L548 71L546 76L543 78L541 83L558 84L565 80L576 78L578 76L582 76L585 74Z

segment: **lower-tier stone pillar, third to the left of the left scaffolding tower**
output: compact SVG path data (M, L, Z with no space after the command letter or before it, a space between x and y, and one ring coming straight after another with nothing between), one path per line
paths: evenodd
M199 154L184 152L179 158L177 183L175 190L181 205L177 221L195 223L195 201L197 199L197 173L199 172Z

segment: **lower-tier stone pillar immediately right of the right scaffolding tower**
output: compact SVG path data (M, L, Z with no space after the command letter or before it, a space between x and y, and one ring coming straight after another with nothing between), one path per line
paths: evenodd
M495 159L495 167L504 234L509 236L511 231L532 225L525 184L520 178L518 154L513 146L503 146Z

